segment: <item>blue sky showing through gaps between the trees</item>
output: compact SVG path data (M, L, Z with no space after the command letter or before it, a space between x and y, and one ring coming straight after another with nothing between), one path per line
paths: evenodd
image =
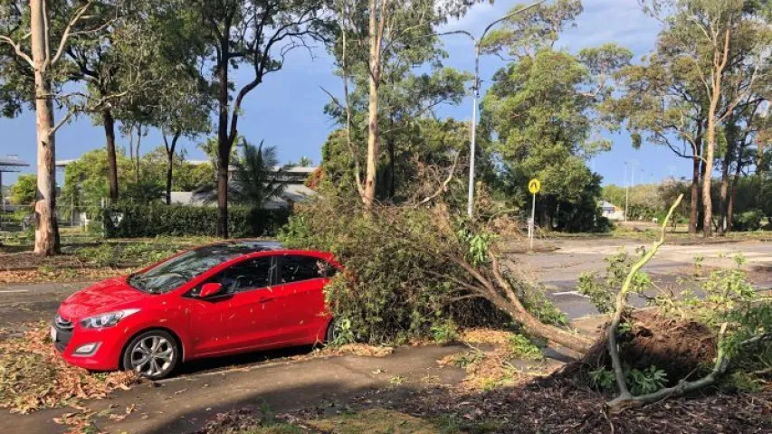
M461 20L448 24L448 28L479 34L488 23L521 2L498 0L495 5L475 5ZM585 11L578 17L577 26L562 34L558 42L560 47L577 52L584 47L616 42L633 50L636 61L653 49L659 24L641 12L637 0L585 0L584 6ZM469 39L445 36L443 43L449 53L445 61L447 66L472 71L472 44ZM483 88L487 87L491 76L502 64L495 56L481 60ZM243 77L243 80L247 78ZM342 93L340 80L333 75L329 55L320 46L315 50L313 59L308 52L294 52L283 70L266 77L262 85L245 99L239 132L253 143L264 140L266 145L277 146L282 162L309 156L314 163L319 163L321 145L335 127L322 111L328 97L320 87ZM454 118L469 119L472 117L472 99L465 99L457 107L444 108L442 112ZM14 119L0 118L0 156L15 154L33 164L34 134L33 113L26 112ZM625 161L631 166L635 162L636 184L640 180L649 182L689 173L691 163L678 159L662 146L644 144L641 150L636 151L626 133L608 137L614 142L613 149L590 162L590 166L604 176L605 184L624 183ZM91 118L81 117L62 127L56 140L57 159L77 158L88 150L104 146L104 132L100 126L92 124ZM195 146L199 141L182 142L188 158L204 158ZM128 138L118 138L119 146L128 146L128 143ZM143 151L161 144L157 133L151 132L142 141ZM26 172L33 173L33 168ZM4 184L14 180L14 174L4 175Z

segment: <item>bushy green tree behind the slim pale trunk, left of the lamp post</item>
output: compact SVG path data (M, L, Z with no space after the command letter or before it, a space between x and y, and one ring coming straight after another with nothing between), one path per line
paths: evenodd
M422 161L415 161L416 157L428 151L424 140L427 133L425 128L431 131L432 127L441 123L431 122L431 119L436 118L436 109L443 105L460 103L465 94L464 83L471 80L468 74L444 68L441 63L444 52L434 45L436 40L432 37L424 39L429 43L407 44L394 52L384 54L381 66L382 81L378 86L378 118L381 124L378 127L378 141L385 142L386 146L379 149L376 156L379 164L376 171L378 176L375 198L378 200L395 201L400 184L407 186L407 182L414 177L416 163L432 163L425 158L427 155L424 155ZM348 150L346 147L336 149L342 151L343 160L350 163L354 185L360 197L364 199L366 189L361 180L366 174L361 172L365 163L362 160L361 148L369 134L367 118L370 75L365 60L360 57L358 61L354 61L355 58L350 56L351 52L349 51L347 71L342 68L338 71L340 75L349 74L344 78L347 81L344 91L348 90L348 94L343 101L332 97L325 111L344 128ZM342 63L342 60L339 60L339 63ZM430 71L415 71L417 65L428 66ZM348 87L349 80L352 88ZM347 127L349 124L350 130ZM448 148L446 151L458 153L461 148ZM327 152L323 165L329 167L330 158L336 157ZM385 165L380 164L383 161L386 161ZM405 197L405 194L402 196Z

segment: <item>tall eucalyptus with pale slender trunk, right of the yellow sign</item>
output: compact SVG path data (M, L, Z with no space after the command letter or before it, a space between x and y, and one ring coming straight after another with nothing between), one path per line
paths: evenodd
M702 176L702 230L713 233L712 174L720 127L757 89L767 58L767 37L752 28L767 27L759 7L746 0L639 0L645 10L662 20L658 50L681 56L685 71L704 91L704 165ZM750 65L739 92L731 86L733 65ZM724 195L724 198L726 196Z

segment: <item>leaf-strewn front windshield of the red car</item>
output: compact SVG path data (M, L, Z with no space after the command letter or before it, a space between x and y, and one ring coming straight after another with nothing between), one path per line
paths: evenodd
M129 276L129 285L151 294L164 294L185 285L190 280L225 261L255 251L277 248L275 243L234 242L214 244L168 259L144 273Z

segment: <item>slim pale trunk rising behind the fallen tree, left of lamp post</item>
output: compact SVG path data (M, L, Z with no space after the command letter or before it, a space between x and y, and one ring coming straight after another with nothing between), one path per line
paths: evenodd
M362 197L362 201L365 203L365 208L367 210L373 207L376 198L377 161L378 153L380 152L380 131L378 130L378 87L380 86L381 80L381 32L378 28L376 7L376 0L370 0L370 21L368 28L368 36L370 39L370 93L367 103L367 175L365 177L365 194ZM386 18L381 17L381 19L383 20Z

